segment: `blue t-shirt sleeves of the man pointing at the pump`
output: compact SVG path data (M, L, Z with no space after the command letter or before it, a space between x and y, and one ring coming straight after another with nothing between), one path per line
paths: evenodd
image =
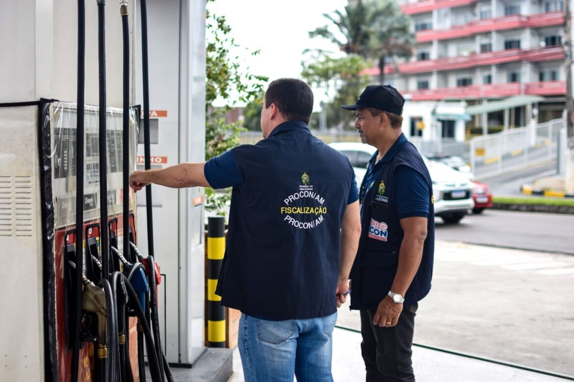
M205 179L212 188L227 188L239 187L241 190L243 186L243 176L237 171L235 166L235 159L231 151L226 151L220 156L212 157L205 163L203 170ZM349 199L347 204L351 204L359 199L359 190L353 173L353 180L351 183L351 191L349 192Z

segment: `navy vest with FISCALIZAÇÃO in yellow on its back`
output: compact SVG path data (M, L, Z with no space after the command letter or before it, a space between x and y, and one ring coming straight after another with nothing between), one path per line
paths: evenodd
M347 157L301 121L231 152L245 182L231 196L222 305L270 320L335 313Z

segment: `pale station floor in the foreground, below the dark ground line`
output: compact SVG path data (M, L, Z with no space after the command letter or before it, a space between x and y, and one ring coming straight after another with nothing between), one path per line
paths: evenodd
M333 380L364 381L360 355L360 333L336 328L333 334ZM422 382L550 382L559 377L526 371L506 365L471 359L437 350L413 346L413 368ZM233 373L229 382L242 382L243 369L237 348L233 351Z

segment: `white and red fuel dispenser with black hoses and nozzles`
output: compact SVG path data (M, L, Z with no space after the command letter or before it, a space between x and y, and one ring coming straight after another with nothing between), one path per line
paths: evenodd
M204 352L203 190L150 195L140 216L153 206L165 222L153 227L137 219L144 206L123 175L139 151L142 111L129 105L148 81L135 44L147 27L135 14L154 30L144 162L204 159L205 4L130 1L120 15L118 3L105 6L30 0L0 14L10 36L0 73L10 90L0 94L0 277L15 286L0 297L9 312L0 346L10 349L0 380L144 380L147 361L152 380L169 381L169 365L191 367Z

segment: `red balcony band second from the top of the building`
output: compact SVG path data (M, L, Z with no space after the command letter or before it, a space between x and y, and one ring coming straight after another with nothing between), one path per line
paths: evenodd
M429 29L417 32L417 42L433 40L449 40L452 38L470 37L478 33L487 33L492 30L519 29L525 27L543 27L563 25L564 13L551 12L530 16L512 15L471 21L466 25L453 26L450 29Z

